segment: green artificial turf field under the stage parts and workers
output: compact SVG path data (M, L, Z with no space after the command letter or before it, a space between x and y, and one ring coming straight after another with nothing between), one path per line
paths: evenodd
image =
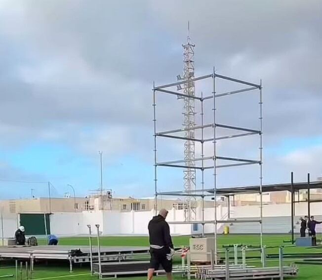
M96 244L96 239L93 238L93 244ZM287 245L289 243L284 243L283 240L289 240L289 236L283 235L267 235L263 237L263 243L267 246L278 246L278 245ZM100 239L102 246L148 246L148 237L101 237ZM39 240L40 245L45 243L45 240ZM173 243L175 246L186 246L189 244L189 237L180 236L173 237ZM227 244L249 244L249 245L258 245L259 237L254 235L228 235L228 236L218 236L218 249L221 249L222 245ZM88 245L88 238L86 237L75 237L75 238L61 238L59 240L59 245ZM300 252L322 252L321 248L299 248L299 247L285 247L284 253L300 253ZM277 254L278 248L268 248L266 250L268 254ZM250 253L247 253L249 256ZM252 256L258 256L259 253L252 252ZM180 261L180 260L178 260ZM284 260L285 264L291 263L287 259ZM249 265L258 265L260 262L258 260L249 261ZM278 261L270 261L268 259L268 266L278 266ZM15 268L8 267L12 266L12 263L1 263L0 264L0 277L3 275L15 274ZM322 266L319 265L297 265L299 268L299 274L296 279L298 280L322 280ZM67 279L71 280L92 280L98 279L97 276L91 277L89 275L89 266L79 267L74 265L74 272L69 273L69 264L68 262L60 262L59 264L49 263L49 265L36 264L35 272L33 273L33 279ZM19 276L20 277L20 276ZM18 279L20 279L18 277ZM24 277L24 275L23 275ZM12 278L11 278L12 279ZM23 278L25 279L25 278ZM121 278L122 280L146 280L146 277L130 277L130 278ZM164 280L165 277L158 277L156 279ZM174 276L175 280L182 279L181 276Z

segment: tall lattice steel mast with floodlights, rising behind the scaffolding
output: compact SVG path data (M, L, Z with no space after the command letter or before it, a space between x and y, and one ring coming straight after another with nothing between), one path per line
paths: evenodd
M195 76L195 66L194 66L194 56L195 56L195 45L190 42L189 37L189 24L188 24L188 37L187 43L182 45L183 47L183 80L191 80ZM181 89L181 88L178 88ZM186 95L195 95L195 82L185 83L183 87L183 92ZM195 99L184 98L183 106L183 125L184 128L192 128L195 126ZM185 137L187 139L195 138L195 130L185 130ZM188 193L196 190L196 169L195 167L195 141L186 140L184 143L184 159L186 160L186 168L184 172L184 188ZM191 221L196 220L196 205L197 200L195 197L187 197L185 199L185 220Z

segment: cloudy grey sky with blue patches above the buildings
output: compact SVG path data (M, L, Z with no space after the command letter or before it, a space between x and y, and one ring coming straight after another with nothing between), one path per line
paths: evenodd
M297 181L321 176L321 14L320 0L0 0L1 197L46 194L45 183L7 181L50 181L55 196L72 184L84 196L99 186L100 150L105 188L151 196L151 88L182 73L188 20L196 75L215 66L263 81L264 183L288 181L290 171ZM258 127L257 97L219 101L220 122ZM159 127L176 128L182 101L166 98ZM230 141L219 143L221 156L257 156L256 138ZM160 160L181 159L182 147L160 143ZM182 189L182 175L162 169L160 190ZM218 182L254 184L258 168L220 171Z

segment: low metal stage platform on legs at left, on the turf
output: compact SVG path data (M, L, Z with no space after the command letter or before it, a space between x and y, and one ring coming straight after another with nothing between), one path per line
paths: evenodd
M100 246L101 261L121 261L146 255L149 247L137 246ZM89 246L8 246L0 247L0 259L68 260L72 271L73 263L89 263ZM98 260L98 247L92 246L92 259Z

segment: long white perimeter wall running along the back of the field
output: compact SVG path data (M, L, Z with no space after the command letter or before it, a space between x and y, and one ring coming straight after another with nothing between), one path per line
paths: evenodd
M322 203L311 204L311 214L317 220L322 220ZM307 215L307 203L298 203L295 207L295 232L299 231L299 218ZM154 216L154 211L84 211L84 212L56 212L50 216L51 233L58 236L88 235L87 225L91 225L92 234L96 234L95 224L100 225L103 235L147 235L148 223ZM260 216L258 205L231 206L230 218L226 224L218 224L217 232L222 233L223 227L228 225L231 233L259 233L259 223L234 223L238 219L256 219ZM205 220L214 220L214 209L204 210ZM201 208L197 209L197 220L202 219ZM228 219L228 208L217 207L217 219ZM169 211L167 221L183 221L184 211L172 209ZM3 237L13 237L17 228L17 215L5 214L3 216ZM263 205L263 231L264 233L288 233L291 230L290 204ZM170 224L172 235L191 235L201 233L201 225L197 231L189 224ZM322 226L317 226L322 232ZM205 233L213 233L214 225L206 224ZM0 231L2 237L2 230Z

